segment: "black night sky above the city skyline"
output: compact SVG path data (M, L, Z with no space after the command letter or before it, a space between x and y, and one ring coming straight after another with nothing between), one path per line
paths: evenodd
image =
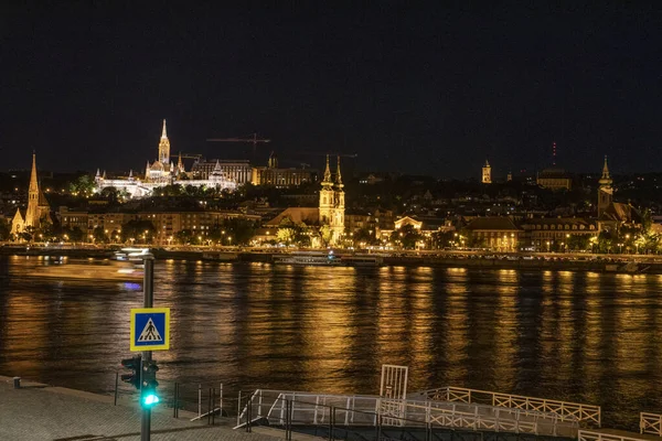
M546 166L553 141L570 171L662 164L660 2L6 3L0 170L32 149L42 169L142 169L162 118L173 152L229 159L205 139L256 131L285 165L332 150L478 178L485 158Z

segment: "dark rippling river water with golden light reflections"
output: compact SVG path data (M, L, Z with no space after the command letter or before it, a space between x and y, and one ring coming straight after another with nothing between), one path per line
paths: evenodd
M50 280L0 263L0 374L111 390L140 284ZM28 276L30 273L30 276ZM447 385L602 406L636 429L662 411L662 276L466 268L314 268L158 261L171 308L160 380L376 394Z

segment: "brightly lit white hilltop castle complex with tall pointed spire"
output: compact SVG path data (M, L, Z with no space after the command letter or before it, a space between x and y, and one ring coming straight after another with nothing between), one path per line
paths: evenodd
M106 179L106 172L102 175L99 170L97 170L95 182L99 192L106 187L115 187L119 191L126 191L131 197L150 196L154 189L175 184L229 191L234 191L237 187L237 183L225 175L218 162L216 162L216 166L205 180L189 180L184 178L188 178L188 174L184 170L181 155L177 165L170 161L170 140L166 131L166 120L163 120L163 131L159 141L159 157L151 164L149 161L147 162L143 179L134 176L134 171L130 171L128 179L109 180Z

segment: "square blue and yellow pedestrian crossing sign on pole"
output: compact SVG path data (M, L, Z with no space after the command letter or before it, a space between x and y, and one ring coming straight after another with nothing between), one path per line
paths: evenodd
M131 310L131 351L170 349L170 308Z

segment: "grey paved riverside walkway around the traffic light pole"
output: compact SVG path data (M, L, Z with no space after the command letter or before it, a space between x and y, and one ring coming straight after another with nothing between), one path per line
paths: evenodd
M113 397L35 383L21 386L14 389L11 378L0 376L0 440L140 440L140 411L134 405L114 406ZM172 418L172 409L164 407L152 411L151 439L276 441L285 435L233 430L228 419L221 419L224 426L206 426L206 420L191 422L184 415Z

